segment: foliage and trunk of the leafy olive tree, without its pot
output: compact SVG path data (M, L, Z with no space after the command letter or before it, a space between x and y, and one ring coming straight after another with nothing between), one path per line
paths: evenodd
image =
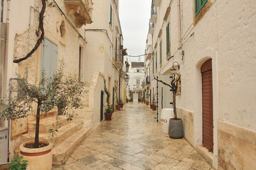
M41 112L47 113L57 106L58 114L68 115L68 120L72 120L73 115L68 113L68 110L82 106L83 86L75 77L70 76L64 79L63 67L62 63L58 72L50 78L46 78L45 73L42 72L40 80L36 79L35 84L28 83L24 77L20 78L20 96L22 97L15 97L9 103L0 101L0 107L3 108L0 111L0 119L4 120L15 120L26 116L28 112L32 111L33 104L37 103L34 148L39 147Z

